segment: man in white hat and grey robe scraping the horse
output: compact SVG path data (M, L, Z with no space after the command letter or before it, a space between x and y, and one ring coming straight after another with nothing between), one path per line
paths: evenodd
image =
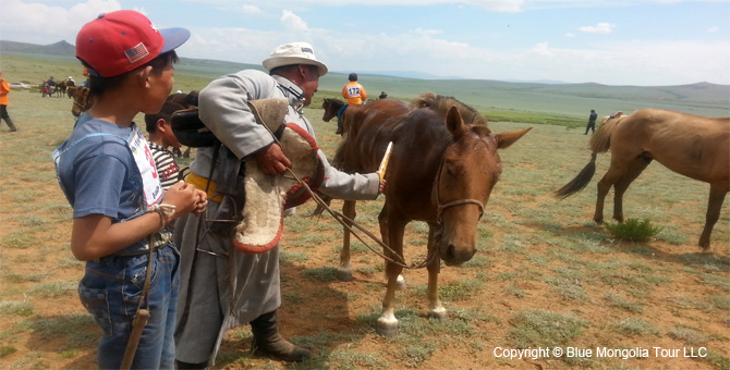
M317 60L306 42L279 46L263 64L268 75L257 70L240 71L219 77L200 90L199 118L230 155L223 150L215 155L215 147L198 149L190 165L192 174L186 178L197 188L205 190L207 184L220 185L224 181L226 169L218 164L211 172L211 163L221 163L226 156L234 156L239 166L244 161L256 161L269 175L283 173L291 165L271 134L256 123L248 100L287 99L285 122L297 124L315 137L302 109L312 102L327 65ZM214 160L215 156L223 159ZM379 174L346 174L332 168L321 150L318 156L325 166L321 193L333 198L362 200L375 199L382 192L385 182ZM216 201L215 193L210 195L209 218L224 208ZM261 254L244 254L232 246L230 229L215 230L215 225L204 223L203 230L210 227L210 232L198 234L196 217L180 221L177 227L175 240L182 261L175 331L180 369L214 365L226 331L246 323L252 326L252 350L287 361L301 361L311 356L308 350L279 334L278 245Z

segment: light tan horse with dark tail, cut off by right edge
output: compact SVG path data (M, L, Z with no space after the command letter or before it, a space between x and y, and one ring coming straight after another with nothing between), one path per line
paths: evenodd
M613 219L623 222L623 193L652 160L688 177L709 183L709 201L699 246L709 248L713 226L730 190L730 118L710 119L660 109L607 116L591 138L591 162L556 195L582 190L596 171L596 153L611 150L611 165L598 182L596 212L604 221L604 199L613 186Z

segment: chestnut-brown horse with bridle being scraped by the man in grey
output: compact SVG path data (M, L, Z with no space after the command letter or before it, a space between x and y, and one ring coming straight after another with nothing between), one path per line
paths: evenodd
M486 119L458 100L425 94L407 104L381 99L349 107L334 162L345 172L378 169L393 143L386 172L386 201L378 217L385 248L387 293L377 332L398 334L396 288L403 270L403 233L411 221L428 223L428 314L445 319L438 298L440 260L460 266L476 252L476 226L502 171L497 149L512 145L531 128L495 134ZM355 202L343 212L355 217ZM352 276L345 233L338 275Z

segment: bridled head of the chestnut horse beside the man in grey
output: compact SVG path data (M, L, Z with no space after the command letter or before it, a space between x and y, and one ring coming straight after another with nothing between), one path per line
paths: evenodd
M486 125L466 124L458 107L446 115L451 143L434 184L437 205L435 248L447 266L460 266L476 252L477 223L502 172L497 149L504 149L531 128L495 134Z

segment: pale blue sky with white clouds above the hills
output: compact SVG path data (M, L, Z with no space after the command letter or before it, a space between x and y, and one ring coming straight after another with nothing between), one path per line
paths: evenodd
M120 9L188 28L183 58L260 64L306 41L342 73L730 85L730 0L2 0L0 39L75 45Z

